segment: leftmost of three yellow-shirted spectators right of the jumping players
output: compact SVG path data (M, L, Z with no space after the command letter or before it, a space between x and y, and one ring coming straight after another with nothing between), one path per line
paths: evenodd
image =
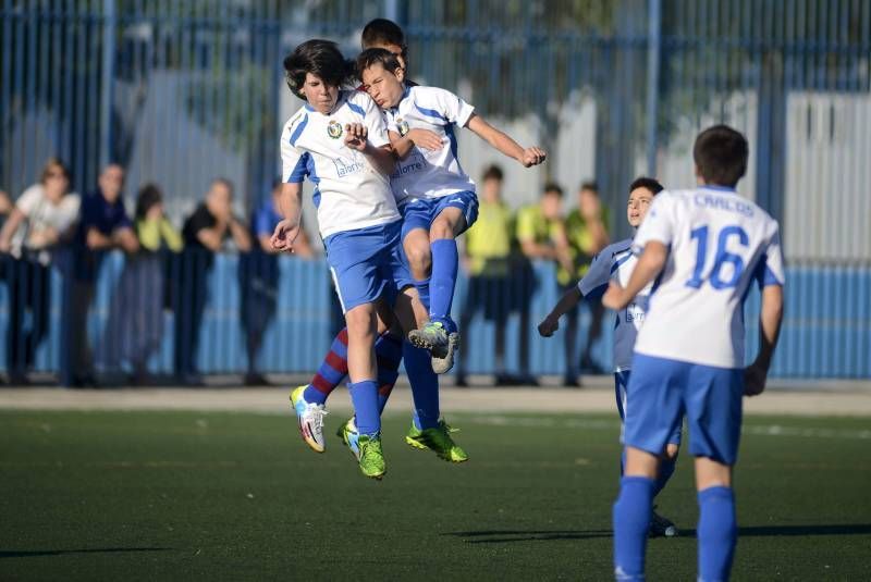
M494 326L496 384L507 384L505 374L505 322L511 310L511 251L514 216L502 200L503 174L499 165L489 166L481 179L478 220L466 232L464 265L468 272L466 299L459 314L459 329L467 330L475 313L481 311ZM469 342L459 344L456 385L466 386Z

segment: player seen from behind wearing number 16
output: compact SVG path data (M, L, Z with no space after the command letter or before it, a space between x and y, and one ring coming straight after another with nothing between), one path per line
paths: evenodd
M641 255L628 283L612 281L602 300L625 309L655 282L626 394L626 468L614 504L617 580L645 579L660 454L684 416L696 458L698 580L728 579L741 397L764 389L783 317L777 222L735 193L747 171L747 140L716 125L699 134L692 157L699 186L657 196L635 236ZM744 300L753 282L762 294L760 350L745 368Z

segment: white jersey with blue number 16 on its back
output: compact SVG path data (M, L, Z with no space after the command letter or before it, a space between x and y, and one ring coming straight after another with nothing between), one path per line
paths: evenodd
M750 284L783 285L777 222L735 190L665 190L638 228L634 250L668 247L654 283L638 354L719 368L743 368L744 300Z

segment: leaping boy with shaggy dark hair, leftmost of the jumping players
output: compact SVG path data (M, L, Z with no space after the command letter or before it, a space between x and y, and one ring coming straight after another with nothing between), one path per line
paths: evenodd
M373 351L376 320L390 319L385 296L395 295L403 272L408 288L417 294L402 260L402 218L388 177L395 158L375 102L364 92L341 90L352 69L334 42L299 45L284 60L284 69L291 90L307 104L287 121L281 136L285 219L275 227L272 246L293 249L307 176L316 184L318 225L347 325L348 389L358 431L355 453L363 473L380 479L385 463ZM305 417L322 422L322 414ZM310 431L320 433L321 428Z

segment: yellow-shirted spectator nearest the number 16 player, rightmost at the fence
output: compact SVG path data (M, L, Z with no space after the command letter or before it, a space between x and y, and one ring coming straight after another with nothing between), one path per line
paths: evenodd
M608 236L608 208L599 198L599 188L594 182L585 182L578 189L578 208L566 218L566 235L575 260L575 274L567 284L560 283L560 293L573 288L573 281L584 278L593 257L610 244ZM591 297L587 305L590 309L590 326L587 329L587 342L580 356L580 369L584 372L603 373L602 368L592 359L592 346L602 335L602 320L605 310L600 297ZM568 373L567 385L577 386L578 374L575 362L578 361L578 306L566 313L565 354Z

